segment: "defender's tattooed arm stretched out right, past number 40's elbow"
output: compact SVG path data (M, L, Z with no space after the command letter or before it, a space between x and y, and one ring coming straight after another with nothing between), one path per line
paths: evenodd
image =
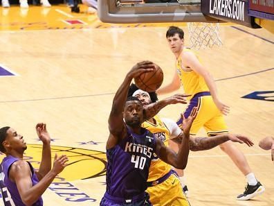
M181 144L182 137L183 136L180 134L178 137L172 139L172 141L175 141L177 144ZM190 137L190 151L209 150L229 140L239 142L240 144L245 143L248 146L253 146L253 142L248 139L248 137L226 133L223 135L216 135L214 137Z

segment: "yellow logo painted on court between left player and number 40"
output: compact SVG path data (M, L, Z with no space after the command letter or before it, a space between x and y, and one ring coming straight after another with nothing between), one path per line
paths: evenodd
M67 155L69 157L68 166L58 175L58 179L84 180L106 175L107 156L104 152L66 146L51 146L52 160L55 153L58 156ZM41 156L42 145L28 144L28 149L24 153L24 160L30 162L35 169L39 169ZM1 153L0 159L2 160L3 157L5 154Z

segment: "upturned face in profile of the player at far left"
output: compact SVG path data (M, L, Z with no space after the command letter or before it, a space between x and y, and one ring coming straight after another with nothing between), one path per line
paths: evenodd
M8 136L6 137L6 140L4 142L6 145L6 148L9 150L16 150L24 152L27 148L26 142L23 139L23 136L20 134L17 134L17 131L13 128L9 128L7 131Z

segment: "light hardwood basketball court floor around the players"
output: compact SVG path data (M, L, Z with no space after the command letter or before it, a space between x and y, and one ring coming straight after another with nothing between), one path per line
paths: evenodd
M53 16L48 17L52 22L48 20L46 26L38 28L30 24L39 22L38 17L28 21L13 19L19 8L10 8L8 15L1 16L0 65L17 76L0 78L0 126L12 126L24 135L28 143L26 156L35 167L41 151L35 132L37 122L47 123L53 153L69 155L70 165L46 190L44 205L99 205L105 189L104 147L113 94L127 71L141 60L152 60L162 67L164 85L172 79L174 57L165 40L167 26L172 24L117 28L118 25L102 24L95 15L83 13L81 18L94 19L98 24L73 14L69 19L80 19L86 23L82 26L86 29L51 29L56 19L61 22L60 28L62 20L66 20L65 15L57 16L55 9L62 8L51 8ZM29 12L35 10L43 8L31 7ZM28 22L30 26L21 29L12 22ZM188 42L188 33L185 35ZM270 152L257 145L259 139L274 135L274 35L264 29L234 25L221 26L221 38L223 46L198 53L217 80L221 100L230 105L226 117L230 131L248 135L255 142L253 148L240 144L237 147L246 155L266 191L254 200L237 201L236 196L246 184L244 176L219 148L214 148L190 153L185 170L190 203L271 206L274 165ZM268 96L264 100L241 98L264 91L269 92L260 94ZM185 105L172 105L161 111L161 116L176 120L184 108ZM200 135L205 133L201 131Z

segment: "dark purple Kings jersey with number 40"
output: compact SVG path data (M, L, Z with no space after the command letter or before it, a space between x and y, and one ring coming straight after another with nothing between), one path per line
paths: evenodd
M127 128L127 137L107 150L107 194L125 199L144 194L155 141L145 128L143 135Z

